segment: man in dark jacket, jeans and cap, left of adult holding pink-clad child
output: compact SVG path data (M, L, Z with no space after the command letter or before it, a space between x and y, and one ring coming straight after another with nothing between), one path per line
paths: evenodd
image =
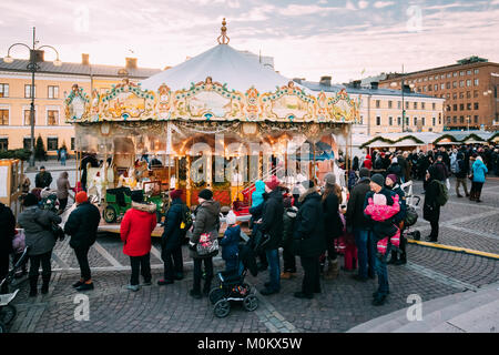
M364 215L364 202L366 201L366 194L370 191L370 172L363 168L359 175L360 180L350 192L345 216L347 231L354 232L355 244L357 245L358 275L353 277L365 282L367 277L375 277L376 251L373 250L374 243L369 221Z

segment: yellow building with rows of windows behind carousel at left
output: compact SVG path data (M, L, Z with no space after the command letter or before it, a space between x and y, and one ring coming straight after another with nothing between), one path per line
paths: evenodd
M42 55L43 58L43 55ZM29 60L16 59L12 63L0 60L0 150L30 149L31 146L31 72ZM138 68L135 58L126 58L124 67L90 64L82 54L81 63L51 61L38 63L34 77L34 139L41 135L48 155L55 155L63 144L74 153L74 128L65 123L63 102L78 84L85 92L110 90L124 78L139 82L160 69Z

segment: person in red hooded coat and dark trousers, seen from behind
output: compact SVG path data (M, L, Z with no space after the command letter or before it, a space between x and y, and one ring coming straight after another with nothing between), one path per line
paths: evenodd
M144 203L142 190L132 192L132 209L121 221L120 234L124 242L123 253L130 256L132 277L126 288L139 291L139 274L144 285L151 285L151 233L156 227L156 205Z

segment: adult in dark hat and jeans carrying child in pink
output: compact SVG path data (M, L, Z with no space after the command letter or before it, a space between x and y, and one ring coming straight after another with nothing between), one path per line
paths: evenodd
M364 210L366 209L366 206L368 204L368 200L373 199L375 193L384 194L386 196L386 201L387 201L388 205L394 204L394 197L396 194L395 194L395 192L385 189L385 178L381 174L374 174L370 178L369 185L370 185L370 192L368 192L366 194L366 200L364 201ZM374 234L373 242L375 244L373 246L373 248L376 248L376 243L380 239L386 237L388 235L393 235L393 234L391 234L391 232L389 232L387 235L379 235L378 233L374 233L374 232L389 230L390 227L395 229L395 226L393 226L393 223L389 220L378 222L378 221L374 221L367 214L364 214L364 215L369 220L369 223L371 225L371 231ZM395 234L395 232L394 232L394 234ZM389 252L390 252L390 244L388 243L386 253L384 255L376 257L376 273L378 275L378 290L373 294L373 297L374 297L373 305L375 305L375 306L380 306L380 305L385 304L386 297L389 293L388 268L387 268L387 255L389 255Z

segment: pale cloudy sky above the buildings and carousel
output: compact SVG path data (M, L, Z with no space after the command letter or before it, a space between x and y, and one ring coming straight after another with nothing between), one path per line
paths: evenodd
M173 67L200 54L227 20L230 45L274 58L287 78L333 82L449 65L499 62L499 0L1 0L0 57L32 41L65 62ZM28 58L17 48L14 58ZM50 50L45 60L54 59Z

